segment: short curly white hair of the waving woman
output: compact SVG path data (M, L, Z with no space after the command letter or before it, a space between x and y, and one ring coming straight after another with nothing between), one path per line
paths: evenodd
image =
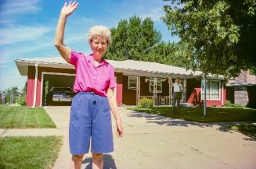
M93 36L96 36L96 35L106 37L107 44L108 45L111 44L111 32L108 27L103 26L103 25L92 26L90 28L90 30L88 31L88 43L89 44L92 43L92 38L93 38Z

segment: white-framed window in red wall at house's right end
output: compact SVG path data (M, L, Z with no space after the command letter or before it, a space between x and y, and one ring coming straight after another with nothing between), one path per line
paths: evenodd
M204 79L201 81L201 100L204 100ZM220 81L207 80L206 81L206 99L220 100Z

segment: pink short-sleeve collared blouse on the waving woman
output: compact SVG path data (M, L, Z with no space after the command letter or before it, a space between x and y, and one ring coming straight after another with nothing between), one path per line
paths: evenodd
M107 89L116 86L114 67L105 59L96 66L92 54L85 56L83 53L72 50L70 64L76 69L73 87L75 93L93 91L100 96L107 97Z

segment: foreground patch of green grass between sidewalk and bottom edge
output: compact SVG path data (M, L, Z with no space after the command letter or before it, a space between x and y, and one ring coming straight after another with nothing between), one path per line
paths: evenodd
M62 144L62 138L48 137L1 137L1 169L49 169Z

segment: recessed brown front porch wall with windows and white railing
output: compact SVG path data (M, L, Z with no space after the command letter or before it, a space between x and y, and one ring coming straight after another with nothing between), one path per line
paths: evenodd
M171 106L172 83L178 76L123 75L123 103L138 105L139 100L153 100L154 106ZM181 76L179 76L181 77ZM182 78L182 100L186 103L186 78Z

